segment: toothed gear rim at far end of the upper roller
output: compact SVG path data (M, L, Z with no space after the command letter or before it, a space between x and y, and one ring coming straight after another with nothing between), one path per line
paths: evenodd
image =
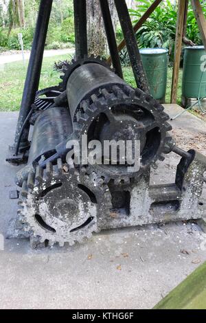
M103 60L100 56L95 57L93 55L91 56L85 56L82 59L79 60L71 60L71 63L68 65L65 65L65 69L62 69L62 72L64 73L63 75L60 76L60 78L62 79L62 82L60 82L59 87L62 91L65 91L67 89L67 82L69 80L69 76L71 76L71 74L73 73L73 71L75 71L75 69L77 69L78 67L82 66L82 65L86 65L86 64L90 64L90 63L96 63L96 64L100 64L103 65L104 67L106 67L107 69L110 69L111 71L114 71L114 69L111 69L110 65L108 65L108 63L106 63L106 60Z

